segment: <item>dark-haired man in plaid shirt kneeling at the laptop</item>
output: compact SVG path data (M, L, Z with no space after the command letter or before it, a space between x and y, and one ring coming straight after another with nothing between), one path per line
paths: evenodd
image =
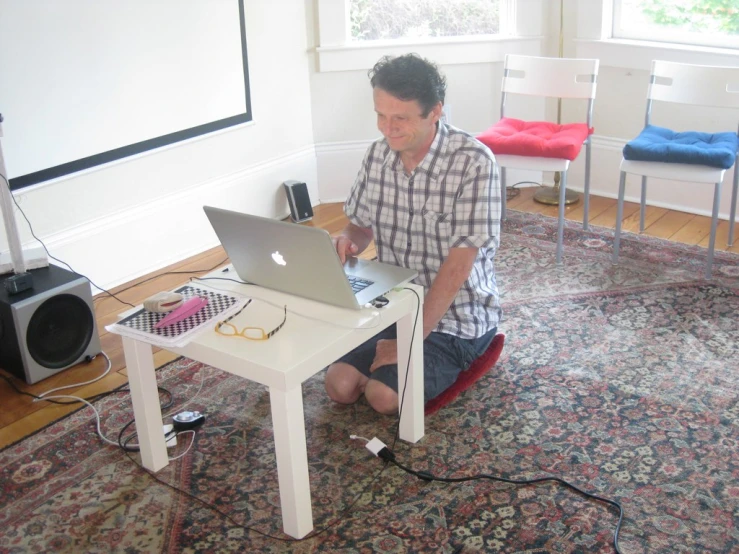
M495 336L500 186L490 150L441 121L446 80L434 64L384 57L370 83L383 138L365 154L344 206L350 223L334 242L342 262L374 239L381 262L418 271L428 402ZM395 338L392 326L332 364L329 397L350 404L364 394L378 412L397 413Z

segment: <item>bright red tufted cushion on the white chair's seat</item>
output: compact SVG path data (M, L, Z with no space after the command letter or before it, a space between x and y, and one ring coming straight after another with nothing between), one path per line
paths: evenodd
M559 125L504 117L477 139L493 154L574 160L593 129L585 123Z

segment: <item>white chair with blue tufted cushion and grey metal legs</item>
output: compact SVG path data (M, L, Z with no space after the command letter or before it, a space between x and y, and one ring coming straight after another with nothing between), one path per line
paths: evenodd
M739 138L734 131L713 134L697 131L675 132L671 129L653 126L651 118L655 101L739 109L739 67L653 61L647 91L645 128L636 139L624 147L624 158L621 161L613 263L618 263L627 173L641 175L640 233L644 231L648 177L713 184L711 236L705 267L705 278L710 279L713 250L716 243L718 208L721 200L721 183L726 170L732 165L734 166L734 187L731 194L729 217L729 246L734 241L737 183L739 182L737 180ZM733 115L735 116L734 122L739 122L739 113Z

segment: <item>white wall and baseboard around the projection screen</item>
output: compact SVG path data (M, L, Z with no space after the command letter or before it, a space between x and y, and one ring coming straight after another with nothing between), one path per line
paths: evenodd
M109 288L216 246L204 204L284 216L287 179L318 198L304 0L245 12L253 122L15 193L52 255Z

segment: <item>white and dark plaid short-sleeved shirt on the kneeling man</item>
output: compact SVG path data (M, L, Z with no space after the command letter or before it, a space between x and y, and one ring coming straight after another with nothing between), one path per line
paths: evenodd
M435 331L472 339L497 327L493 258L500 244L500 183L486 146L440 122L426 157L408 175L400 156L378 139L365 154L344 212L355 225L372 228L381 262L415 269L415 282L427 291L450 248L479 248Z

